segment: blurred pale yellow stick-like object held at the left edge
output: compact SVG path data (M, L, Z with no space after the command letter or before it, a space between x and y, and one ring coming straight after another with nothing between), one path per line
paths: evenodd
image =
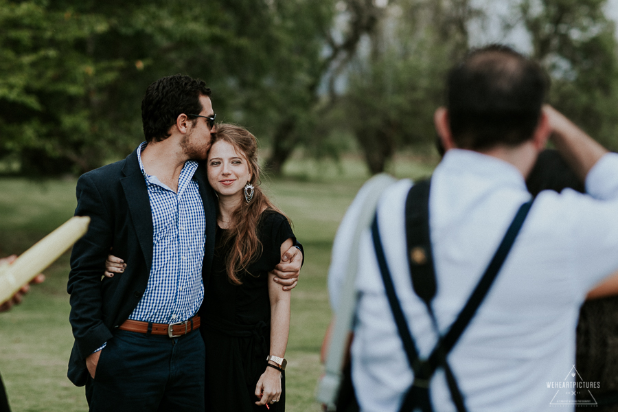
M0 266L0 304L8 301L24 284L54 263L73 243L84 236L90 218L74 216L22 253L12 264Z

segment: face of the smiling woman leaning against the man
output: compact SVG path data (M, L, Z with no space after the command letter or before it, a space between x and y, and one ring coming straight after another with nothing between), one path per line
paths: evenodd
M244 185L251 180L249 164L244 153L219 140L208 153L208 182L219 197L242 198Z

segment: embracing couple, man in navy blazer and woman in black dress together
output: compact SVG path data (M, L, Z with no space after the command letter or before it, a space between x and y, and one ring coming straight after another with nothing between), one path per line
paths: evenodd
M146 141L78 181L68 376L91 411L284 410L302 248L260 190L255 137L215 125L210 94L150 84Z

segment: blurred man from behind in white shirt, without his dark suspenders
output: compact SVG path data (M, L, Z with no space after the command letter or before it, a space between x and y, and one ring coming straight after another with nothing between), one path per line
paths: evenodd
M538 195L488 294L446 356L450 376L439 367L414 380L365 231L352 343L352 381L362 411L399 411L408 393L426 388L437 411L572 409L575 392L584 390L573 387L575 325L588 290L618 269L618 155L542 106L546 79L535 62L497 45L472 52L450 72L447 106L435 113L447 151L428 200L437 282L431 308L439 334L457 319L516 211L531 198L525 178L550 135L586 181L588 195ZM389 187L377 222L404 323L422 361L439 339L411 287L405 233L410 188L410 181ZM334 244L329 288L335 310L343 282L337 274L345 272L340 266L350 253L359 198ZM453 380L461 395L457 407Z

